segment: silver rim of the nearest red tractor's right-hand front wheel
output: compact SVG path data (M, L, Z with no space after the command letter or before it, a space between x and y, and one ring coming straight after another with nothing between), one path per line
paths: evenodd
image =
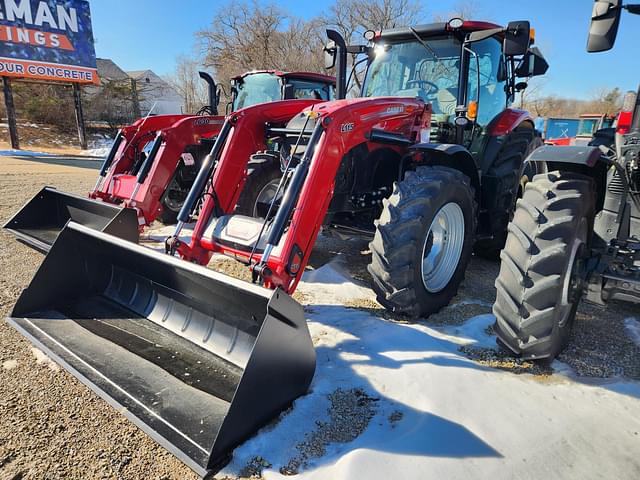
M447 203L433 217L422 247L421 273L431 293L444 289L458 268L464 246L464 213L457 203Z

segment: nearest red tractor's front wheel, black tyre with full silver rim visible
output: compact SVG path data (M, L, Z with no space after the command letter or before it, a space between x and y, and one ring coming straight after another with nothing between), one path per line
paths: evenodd
M383 201L368 267L378 301L411 317L447 305L473 248L477 204L469 178L448 167L418 167Z

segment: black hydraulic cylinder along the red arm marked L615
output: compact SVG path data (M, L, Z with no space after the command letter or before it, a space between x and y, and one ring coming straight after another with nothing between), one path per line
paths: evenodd
M269 256L271 255L271 251L276 245L280 243L280 239L284 234L284 230L287 227L289 218L291 217L291 213L296 206L300 191L302 190L304 182L307 178L307 173L309 172L309 167L311 165L311 159L313 158L315 147L318 144L323 131L324 129L322 127L322 122L316 123L304 155L302 156L300 163L298 163L298 166L293 173L293 177L291 178L291 182L289 183L289 186L284 193L282 203L280 204L280 208L276 213L276 216L273 220L273 225L271 226L271 230L269 231L269 236L267 237L267 246L265 247L262 258L260 259L260 265L263 267L267 264Z

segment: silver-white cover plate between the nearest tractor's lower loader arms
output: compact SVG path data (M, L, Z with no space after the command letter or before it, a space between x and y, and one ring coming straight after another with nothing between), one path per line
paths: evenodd
M210 249L214 244L235 248L251 253L262 253L266 245L271 222L268 222L258 241L258 236L264 224L263 218L247 217L245 215L224 215L211 218L202 236L202 246ZM256 242L257 246L256 246Z

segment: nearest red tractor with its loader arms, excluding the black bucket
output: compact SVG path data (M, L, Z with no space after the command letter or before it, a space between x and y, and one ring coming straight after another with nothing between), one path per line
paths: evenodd
M525 86L516 78L546 62L527 22L372 32L367 47L331 37L339 70L347 51L369 55L361 98L231 115L168 249L201 264L231 255L291 293L321 228L368 236L379 301L428 315L455 294L474 244L490 256L502 248L523 160L542 143L529 114L507 107ZM178 242L203 196L190 244Z

